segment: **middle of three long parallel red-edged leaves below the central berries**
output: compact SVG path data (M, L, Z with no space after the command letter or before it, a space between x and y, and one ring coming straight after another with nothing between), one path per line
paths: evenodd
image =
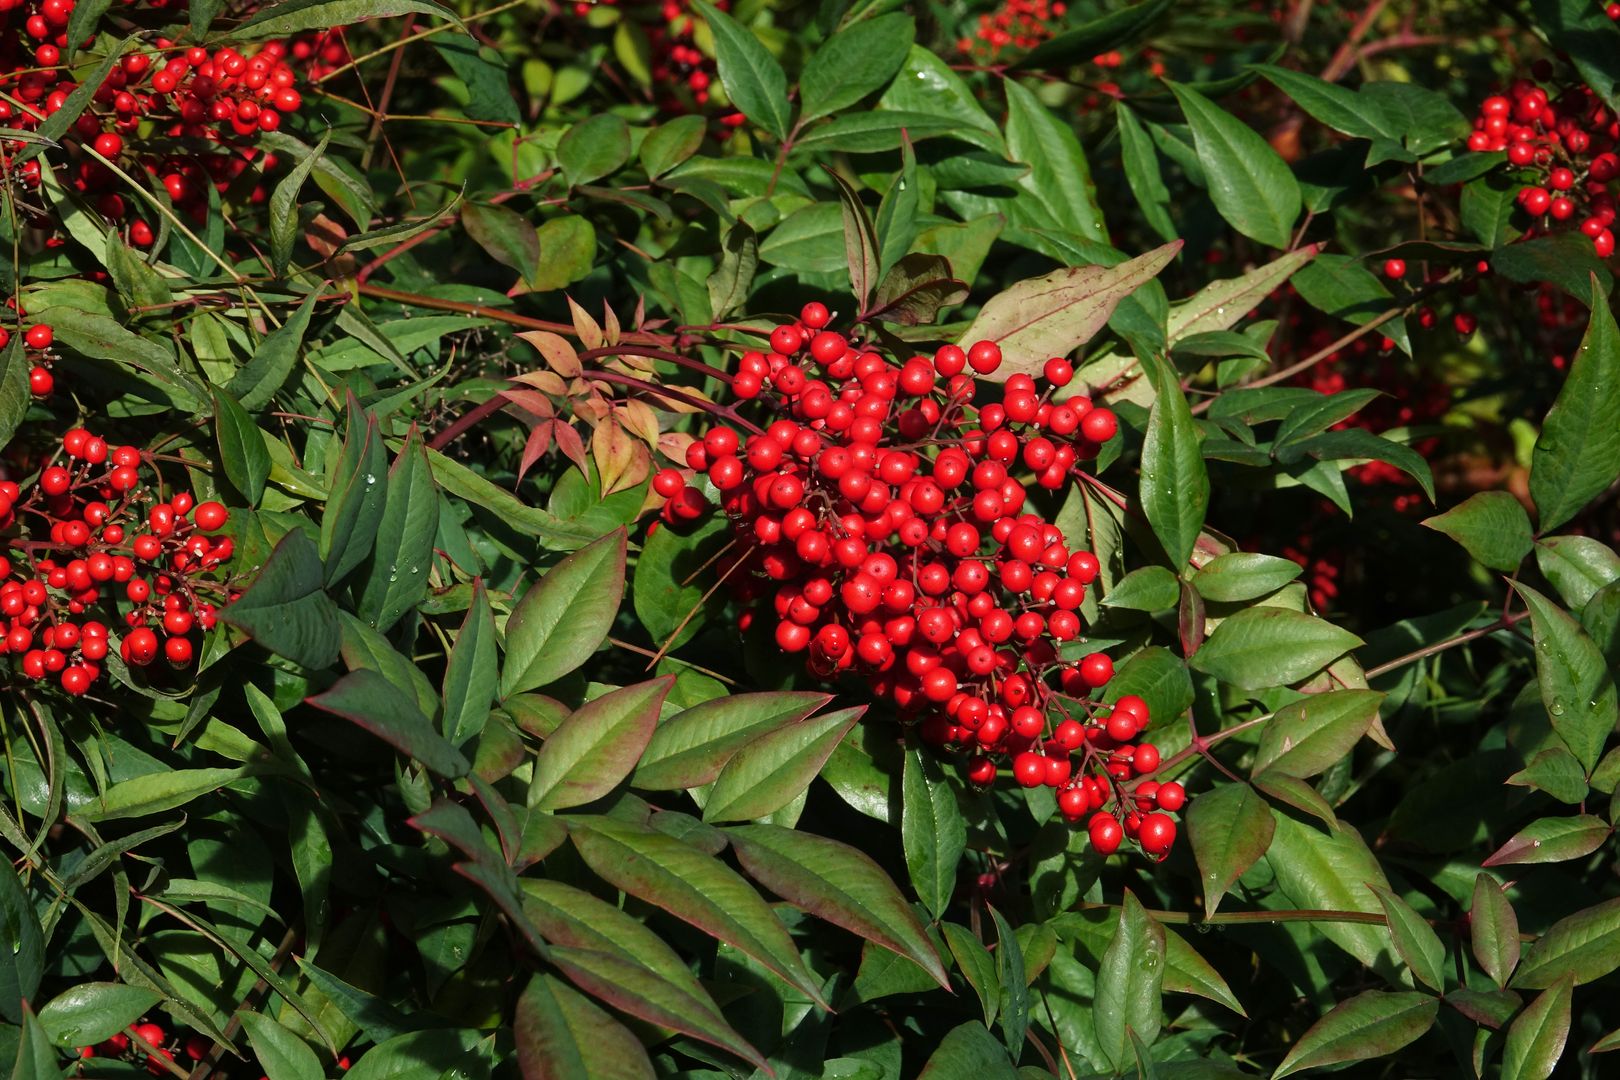
M771 907L713 855L648 826L570 818L585 863L612 886L753 957L821 1004L821 991Z

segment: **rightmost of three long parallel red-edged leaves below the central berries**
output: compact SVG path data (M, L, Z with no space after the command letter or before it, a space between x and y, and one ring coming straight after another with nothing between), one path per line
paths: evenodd
M734 826L737 861L766 889L834 926L915 960L951 988L940 954L899 887L860 850L771 824Z

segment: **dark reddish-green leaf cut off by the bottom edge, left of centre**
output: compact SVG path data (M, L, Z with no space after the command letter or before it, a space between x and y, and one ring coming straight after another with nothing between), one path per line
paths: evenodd
M525 1077L653 1080L642 1041L549 975L536 975L518 997L512 1035Z

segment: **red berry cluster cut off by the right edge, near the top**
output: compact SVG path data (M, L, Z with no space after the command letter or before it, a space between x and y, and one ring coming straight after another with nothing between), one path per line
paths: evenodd
M1487 97L1468 136L1468 149L1507 151L1508 162L1529 173L1518 204L1537 228L1576 227L1602 259L1615 251L1617 146L1620 118L1589 86L1552 97L1531 79Z

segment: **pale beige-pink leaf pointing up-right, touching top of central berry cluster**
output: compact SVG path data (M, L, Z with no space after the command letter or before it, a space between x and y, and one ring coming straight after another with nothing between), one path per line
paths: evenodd
M1037 374L1051 356L1068 356L1108 324L1121 300L1153 280L1181 251L1181 241L1119 266L1081 266L1032 277L996 293L961 337L1001 347L1001 366L987 376Z

